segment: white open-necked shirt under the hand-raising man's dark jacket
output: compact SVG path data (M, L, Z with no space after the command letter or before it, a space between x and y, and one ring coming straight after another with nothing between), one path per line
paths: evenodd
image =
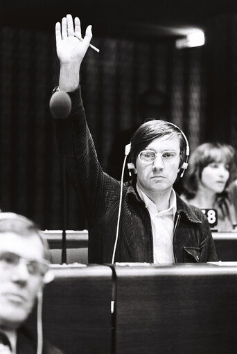
M175 191L172 188L169 207L164 211L157 211L155 204L141 191L139 186L137 186L137 192L150 214L154 263L175 263L173 252L173 229L177 211Z

